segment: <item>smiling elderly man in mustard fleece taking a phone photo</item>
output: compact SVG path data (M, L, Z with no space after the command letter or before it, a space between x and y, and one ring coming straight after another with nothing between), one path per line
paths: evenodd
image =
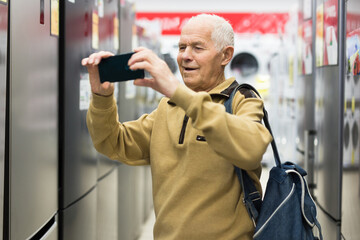
M164 61L145 48L128 64L152 78L137 79L164 94L158 108L120 123L112 84L100 84L97 65L111 53L82 61L93 92L87 124L96 149L129 165L151 165L156 240L252 239L254 226L242 203L234 165L245 169L261 191L261 159L271 135L260 123L263 102L244 90L224 101L237 85L224 68L234 52L231 25L198 15L182 29L177 62L184 84Z

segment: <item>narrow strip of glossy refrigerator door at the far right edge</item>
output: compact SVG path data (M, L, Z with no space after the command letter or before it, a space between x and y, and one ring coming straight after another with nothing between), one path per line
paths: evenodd
M360 239L360 1L347 1L344 119L344 171L341 231L346 239Z

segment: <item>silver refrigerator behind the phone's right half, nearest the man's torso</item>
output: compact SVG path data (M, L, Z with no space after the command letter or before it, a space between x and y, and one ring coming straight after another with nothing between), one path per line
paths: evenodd
M120 43L118 53L133 51L136 41L135 10L133 3L120 1L119 5ZM132 81L118 83L118 114L119 121L126 122L139 117L139 91ZM143 207L141 201L143 191L143 167L120 164L118 168L118 239L136 239L143 223Z

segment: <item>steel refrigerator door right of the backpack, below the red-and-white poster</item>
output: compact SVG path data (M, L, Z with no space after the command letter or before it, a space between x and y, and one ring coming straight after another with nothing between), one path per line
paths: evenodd
M323 224L326 229L337 229L336 221L341 219L341 171L342 171L342 117L340 108L339 67L327 66L317 69L316 123L317 123L317 162L315 164L315 197L322 208L335 221ZM337 77L334 77L337 76ZM337 239L337 235L325 239Z

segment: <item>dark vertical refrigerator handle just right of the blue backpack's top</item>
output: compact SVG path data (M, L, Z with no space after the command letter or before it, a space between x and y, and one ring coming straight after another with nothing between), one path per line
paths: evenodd
M314 189L316 188L315 178L314 178L314 167L315 167L315 130L305 130L304 132L304 165L305 170L307 171L307 181L310 190L310 194L314 195Z

